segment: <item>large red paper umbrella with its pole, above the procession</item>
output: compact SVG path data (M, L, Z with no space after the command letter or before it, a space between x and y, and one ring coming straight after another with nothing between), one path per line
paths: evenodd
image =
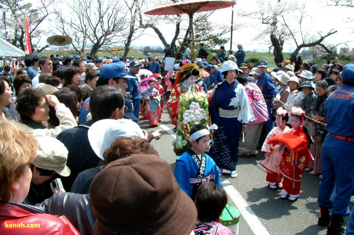
M234 6L235 2L230 0L190 0L181 1L173 4L165 5L161 8L156 8L154 10L145 12L147 15L176 15L176 14L188 14L189 15L189 26L192 31L192 44L194 58L195 54L195 42L194 42L194 30L193 30L193 14L196 12L207 12L222 8L228 8Z

